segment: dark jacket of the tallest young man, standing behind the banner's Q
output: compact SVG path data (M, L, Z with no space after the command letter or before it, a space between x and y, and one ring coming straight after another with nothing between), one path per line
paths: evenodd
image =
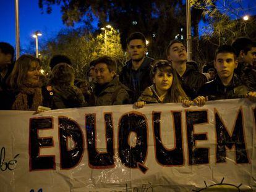
M132 91L132 102L136 102L145 88L152 84L150 78L152 62L153 59L146 56L138 70L132 69L132 60L128 61L126 65L122 67L119 79L122 84L126 85Z

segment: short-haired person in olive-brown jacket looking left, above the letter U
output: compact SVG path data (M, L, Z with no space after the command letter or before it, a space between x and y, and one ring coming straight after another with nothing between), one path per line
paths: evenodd
M129 89L119 81L116 69L116 62L111 57L103 56L95 60L96 83L90 106L130 104Z

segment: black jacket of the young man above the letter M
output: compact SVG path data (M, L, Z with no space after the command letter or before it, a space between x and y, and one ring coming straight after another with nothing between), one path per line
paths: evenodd
M209 81L198 91L200 96L208 96L209 100L243 98L248 93L247 86L234 74L231 85L224 86L219 76Z

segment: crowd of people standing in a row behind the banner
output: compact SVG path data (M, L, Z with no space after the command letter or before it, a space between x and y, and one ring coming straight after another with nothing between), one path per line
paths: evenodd
M90 63L87 80L76 79L67 56L51 58L51 72L40 73L40 59L24 54L14 60L14 48L0 42L0 110L47 111L86 106L181 103L203 106L208 100L248 98L256 101L256 43L237 38L215 52L213 66L198 71L187 61L186 47L172 40L166 59L147 56L145 36L132 33L127 40L129 61L117 74L109 56Z

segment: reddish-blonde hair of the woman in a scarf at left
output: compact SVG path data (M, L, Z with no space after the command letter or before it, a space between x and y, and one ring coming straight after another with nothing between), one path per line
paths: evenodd
M7 80L7 85L9 85L11 90L19 91L25 86L24 83L32 62L38 62L40 64L40 59L27 54L22 55L17 59L14 64L14 69Z

